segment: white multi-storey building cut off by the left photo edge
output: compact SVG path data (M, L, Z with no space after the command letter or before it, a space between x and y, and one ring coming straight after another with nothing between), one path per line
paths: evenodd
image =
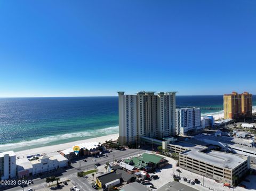
M16 154L13 151L0 153L0 178L6 180L16 176Z

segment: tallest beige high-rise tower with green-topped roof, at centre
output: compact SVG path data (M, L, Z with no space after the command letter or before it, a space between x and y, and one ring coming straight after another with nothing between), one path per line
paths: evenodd
M139 142L141 136L169 137L175 135L175 93L118 92L119 143Z

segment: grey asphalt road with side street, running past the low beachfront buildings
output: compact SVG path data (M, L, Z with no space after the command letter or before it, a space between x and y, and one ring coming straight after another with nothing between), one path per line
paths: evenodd
M151 148L151 147L150 147ZM149 149L150 149L149 148ZM146 152L147 150L144 149L140 149L140 153ZM113 152L109 152L107 155L108 157L99 157L99 158L95 158L97 161L93 161L94 157L87 157L86 160L87 162L84 162L83 159L81 159L81 170L90 170L90 169L94 169L94 164L95 163L101 163L102 165L104 165L106 162L113 162L113 155L115 154L115 159L122 159L124 157L128 157L134 154L138 154L139 151L138 149L127 149L125 151L118 151L118 150L113 150ZM47 177L49 176L55 176L55 177L59 177L59 178L69 178L71 180L71 182L77 187L79 187L79 189L81 189L81 191L87 191L87 190L94 190L91 185L87 182L86 179L83 178L79 178L77 177L77 172L79 171L79 167L80 167L80 162L78 161L73 161L73 163L71 164L71 166L73 166L70 169L60 169L57 172L51 173L51 174L47 174ZM45 178L44 177L39 177L36 179L33 179L33 184L26 186L24 190L27 190L29 188L33 188L33 189L41 189L44 187L47 187L46 183L45 183ZM15 187L2 187L0 188L0 190L8 190L8 191L16 191L16 190L23 190L22 186L15 186Z

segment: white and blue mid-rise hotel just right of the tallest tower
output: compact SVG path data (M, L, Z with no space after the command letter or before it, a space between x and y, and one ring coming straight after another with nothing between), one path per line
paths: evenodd
M186 135L188 131L202 131L200 108L176 109L177 134Z

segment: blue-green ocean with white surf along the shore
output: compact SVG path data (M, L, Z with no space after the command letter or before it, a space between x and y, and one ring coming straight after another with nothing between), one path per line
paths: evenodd
M177 96L181 106L222 107L220 96ZM256 96L253 95L253 105ZM202 115L222 110L201 110ZM118 133L118 97L0 98L0 152Z

